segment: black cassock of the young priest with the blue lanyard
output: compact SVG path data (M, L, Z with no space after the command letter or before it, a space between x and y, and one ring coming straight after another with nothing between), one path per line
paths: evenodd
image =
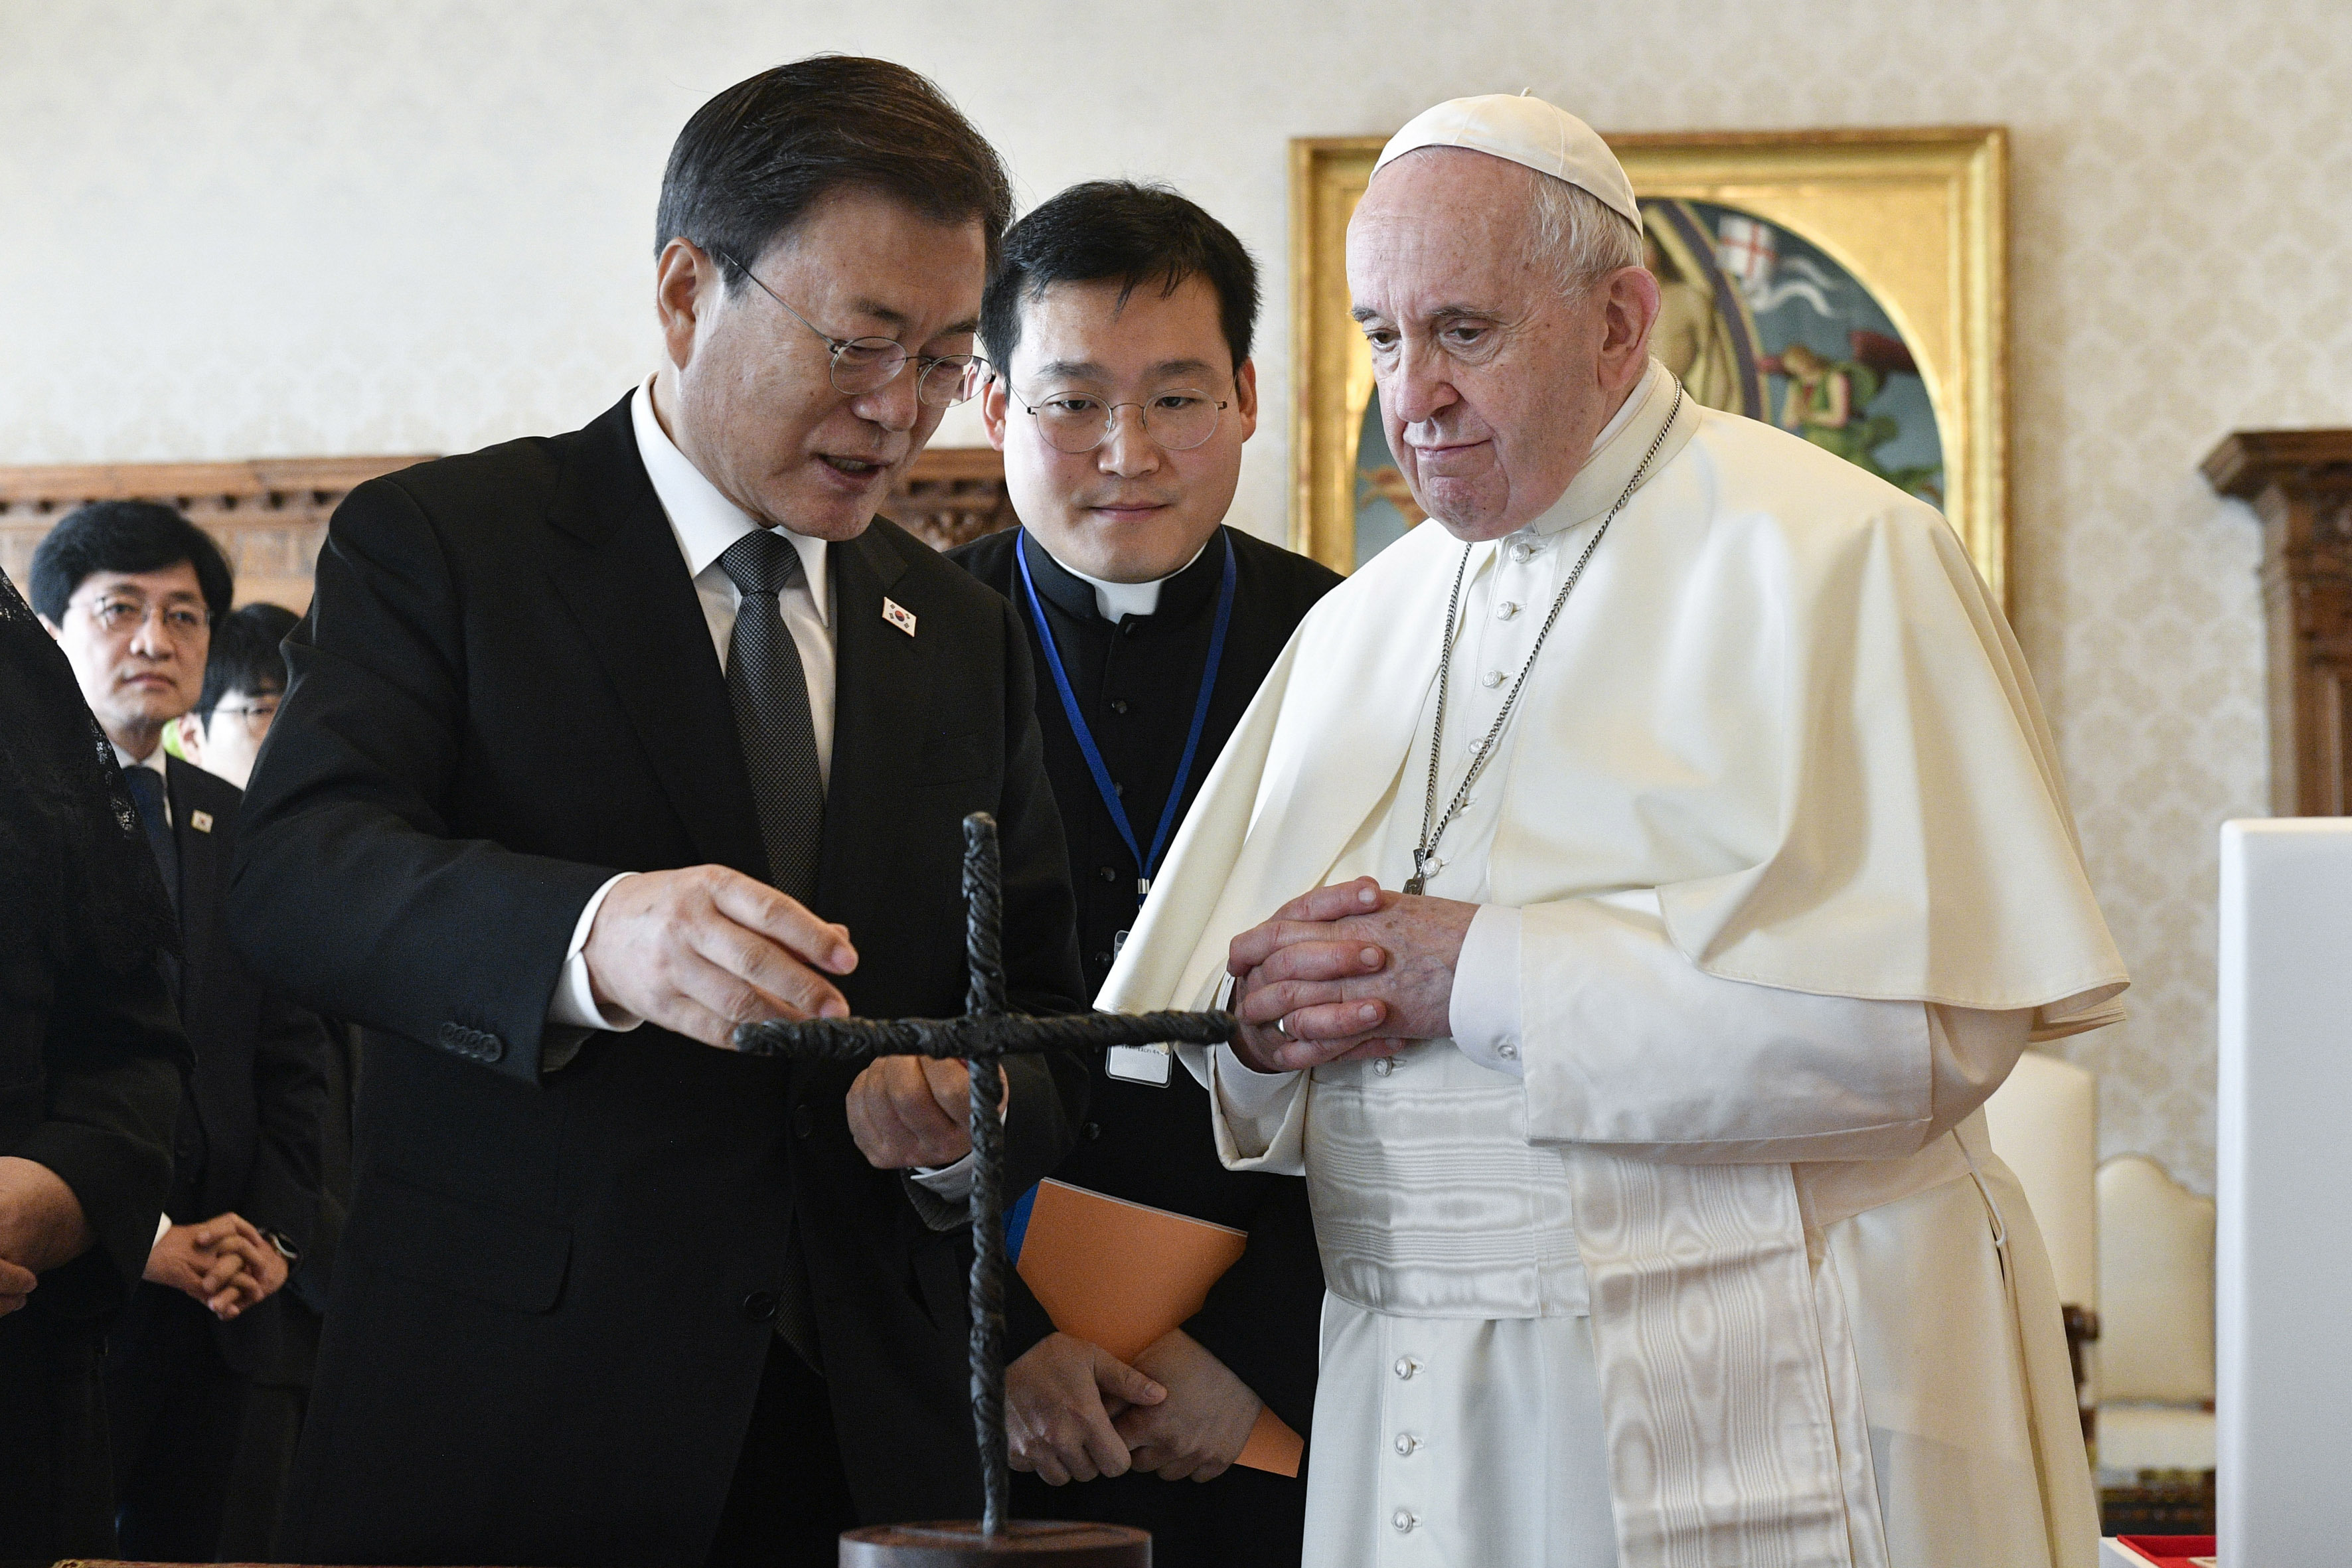
M1322 595L1338 585L1327 567L1225 529L1235 548L1235 607L1209 719L1183 780L1178 825L1225 738L1265 682L1291 630ZM1014 599L1042 665L1044 646L1014 569L1018 534L988 534L955 550L953 559ZM1152 616L1117 625L1101 618L1094 588L1063 571L1030 543L1030 576L1070 672L1080 715L1101 748L1131 827L1150 849L1152 827L1176 783L1176 764L1200 696L1209 654L1223 550L1211 541L1188 569L1160 590ZM1136 858L1110 820L1063 712L1061 696L1040 677L1037 715L1044 726L1047 776L1061 804L1070 860L1080 867L1080 938L1087 983L1110 973L1117 933L1136 917ZM1209 1291L1185 1324L1216 1359L1235 1371L1275 1415L1308 1434L1315 1413L1315 1359L1322 1326L1322 1260L1305 1182L1291 1175L1225 1171L1209 1133L1209 1095L1183 1067L1167 1088L1112 1079L1094 1056L1094 1095L1077 1147L1054 1173L1077 1187L1108 1192L1152 1208L1249 1232L1249 1251ZM1018 1354L1051 1333L1051 1319L1018 1276L1007 1284L1009 1349ZM1018 1509L1070 1519L1136 1523L1157 1537L1157 1554L1183 1563L1296 1563L1305 1481L1284 1483L1263 1472L1232 1469L1209 1486L1169 1483L1150 1474L1117 1481L1044 1488L1016 1481Z

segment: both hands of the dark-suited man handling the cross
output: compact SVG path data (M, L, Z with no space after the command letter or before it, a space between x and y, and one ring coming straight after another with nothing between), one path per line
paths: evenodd
M833 983L858 966L849 929L724 865L614 884L581 950L604 1006L734 1051L736 1025L847 1018ZM849 1086L849 1133L882 1171L953 1166L971 1152L964 1063L884 1056Z

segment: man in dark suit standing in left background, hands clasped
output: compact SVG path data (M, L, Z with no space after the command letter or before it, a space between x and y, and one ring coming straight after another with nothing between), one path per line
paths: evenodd
M228 599L228 562L167 505L85 505L33 552L33 604L115 748L179 917L167 978L195 1077L172 1138L167 1225L106 1354L122 1552L167 1561L219 1552L247 1385L280 1356L278 1288L318 1225L327 1095L318 1018L228 943L238 788L162 750L165 726L198 703ZM245 1288L212 1281L223 1241L252 1265Z

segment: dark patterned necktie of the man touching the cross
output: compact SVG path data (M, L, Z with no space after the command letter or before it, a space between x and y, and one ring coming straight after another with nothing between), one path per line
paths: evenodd
M767 879L776 891L811 903L826 780L816 766L809 679L776 604L776 595L800 578L800 550L774 529L760 529L727 545L720 569L743 595L727 642L727 698L760 806Z

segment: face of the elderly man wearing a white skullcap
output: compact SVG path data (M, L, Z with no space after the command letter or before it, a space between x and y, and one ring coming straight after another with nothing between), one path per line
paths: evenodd
M1421 508L1465 541L1559 501L1649 367L1656 280L1623 268L1564 299L1531 252L1536 179L1423 148L1381 169L1348 223L1388 447Z

